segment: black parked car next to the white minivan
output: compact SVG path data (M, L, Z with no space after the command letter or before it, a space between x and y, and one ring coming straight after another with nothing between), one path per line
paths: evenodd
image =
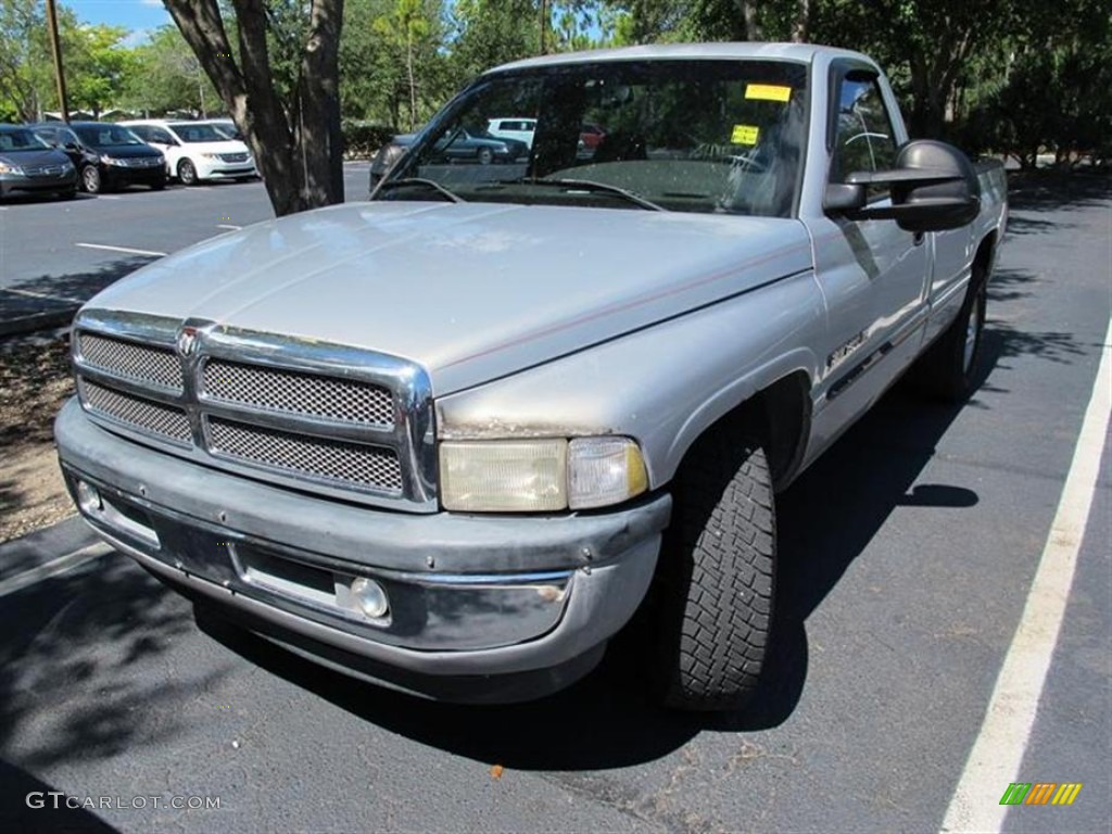
M127 128L103 121L52 121L32 125L31 130L66 152L78 169L81 189L89 193L133 185L166 188L166 158Z

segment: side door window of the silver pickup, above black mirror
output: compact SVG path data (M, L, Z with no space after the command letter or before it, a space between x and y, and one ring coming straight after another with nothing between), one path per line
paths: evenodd
M896 138L876 78L848 72L838 82L837 125L831 179L853 171L882 171L896 158ZM886 188L870 188L870 200L887 196Z

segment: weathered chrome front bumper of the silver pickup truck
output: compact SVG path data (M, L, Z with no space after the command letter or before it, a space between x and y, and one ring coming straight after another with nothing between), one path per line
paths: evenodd
M671 509L661 495L589 515L384 512L147 449L76 400L56 436L75 498L79 479L99 490L85 518L146 568L327 665L450 699L536 697L589 671L644 597ZM357 577L389 616L353 605Z

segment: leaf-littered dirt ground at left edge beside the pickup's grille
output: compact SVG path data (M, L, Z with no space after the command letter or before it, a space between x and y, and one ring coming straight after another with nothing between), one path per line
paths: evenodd
M0 542L73 514L52 424L73 393L64 335L0 342Z

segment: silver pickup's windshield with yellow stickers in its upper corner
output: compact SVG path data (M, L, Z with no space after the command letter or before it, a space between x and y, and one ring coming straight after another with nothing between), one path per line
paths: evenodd
M479 78L421 132L376 198L447 192L790 217L806 79L804 64L744 60L573 63ZM490 132L526 118L536 120L530 135Z

